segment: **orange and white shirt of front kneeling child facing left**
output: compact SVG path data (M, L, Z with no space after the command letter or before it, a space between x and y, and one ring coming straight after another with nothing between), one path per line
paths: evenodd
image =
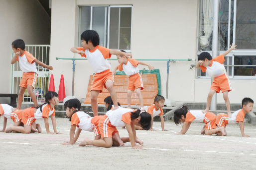
M76 112L71 117L71 126L76 125L78 128L85 131L93 132L92 128L92 118L89 114L85 112Z

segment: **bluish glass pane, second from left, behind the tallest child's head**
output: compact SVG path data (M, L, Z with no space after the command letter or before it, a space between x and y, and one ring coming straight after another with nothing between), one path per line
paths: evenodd
M93 7L93 23L92 23L92 30L96 30L100 36L100 46L106 47L105 40L106 40L106 32L107 32L107 23L106 15L107 11L105 11L107 7L100 6L100 7ZM106 32L105 32L106 31Z

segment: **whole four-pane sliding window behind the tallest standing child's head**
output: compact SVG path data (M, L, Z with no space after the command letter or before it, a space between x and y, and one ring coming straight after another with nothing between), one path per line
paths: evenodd
M130 51L132 6L80 6L79 38L88 29L96 30L100 46Z

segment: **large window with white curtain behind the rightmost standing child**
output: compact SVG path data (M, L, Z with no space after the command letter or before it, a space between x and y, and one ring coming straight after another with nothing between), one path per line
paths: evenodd
M212 55L213 0L200 0L199 49ZM256 78L256 0L220 0L219 4L219 54L230 44L238 50L225 57L224 65L230 78ZM235 20L235 22L234 22ZM197 77L208 77L201 69Z

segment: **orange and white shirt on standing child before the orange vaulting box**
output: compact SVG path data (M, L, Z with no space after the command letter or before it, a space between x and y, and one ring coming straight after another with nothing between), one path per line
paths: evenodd
M120 71L125 71L126 75L130 76L139 72L138 60L127 58L126 63L122 63L118 66Z

